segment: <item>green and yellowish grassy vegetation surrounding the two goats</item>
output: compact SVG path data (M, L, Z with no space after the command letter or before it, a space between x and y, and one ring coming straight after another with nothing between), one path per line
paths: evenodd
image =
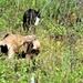
M24 10L41 9L35 33L41 42L37 70L31 70L32 61L28 65L15 55L14 71L8 55L0 53L0 83L30 83L33 73L38 83L83 83L82 6L82 0L0 0L0 39L8 32L25 35Z

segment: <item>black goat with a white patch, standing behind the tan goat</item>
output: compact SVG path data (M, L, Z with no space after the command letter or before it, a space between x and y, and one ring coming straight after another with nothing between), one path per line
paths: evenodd
M38 25L40 21L40 10L35 11L34 9L29 9L24 11L23 14L23 30L29 31L30 25ZM35 33L35 28L33 28Z

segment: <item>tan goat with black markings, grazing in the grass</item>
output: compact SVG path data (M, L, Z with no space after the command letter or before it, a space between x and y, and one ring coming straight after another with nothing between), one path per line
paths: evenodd
M33 59L40 52L40 42L34 35L20 35L8 33L0 41L1 52L8 53L9 59L13 60L15 52L24 52L25 58Z

